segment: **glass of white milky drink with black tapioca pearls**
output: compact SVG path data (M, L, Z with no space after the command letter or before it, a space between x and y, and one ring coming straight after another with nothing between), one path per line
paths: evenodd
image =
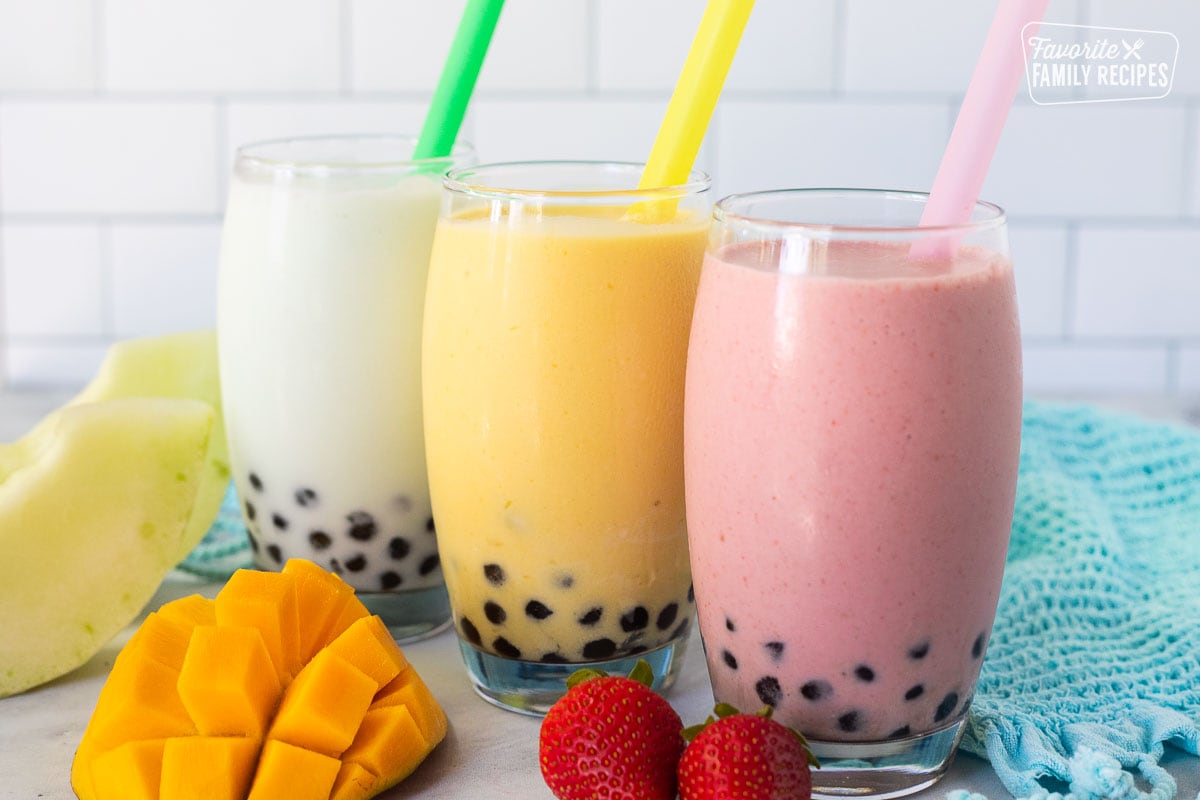
M420 337L446 169L415 139L238 150L217 338L233 477L258 566L332 570L401 640L449 624L425 471Z

